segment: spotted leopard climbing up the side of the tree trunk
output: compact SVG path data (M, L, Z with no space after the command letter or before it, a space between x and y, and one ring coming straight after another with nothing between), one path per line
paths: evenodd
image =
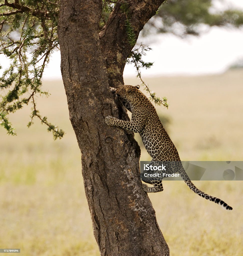
M198 189L186 174L181 163L179 153L164 129L155 107L148 97L139 90L140 86L123 85L119 88L110 88L115 101L120 100L125 108L132 113L131 121L124 121L113 116L106 116L105 123L110 126L117 126L129 132L139 133L147 152L152 157L152 162L167 161L176 162L176 168L170 168L167 173L178 172L187 186L197 195L221 205L226 210L233 208L223 200L210 196ZM163 191L162 179L143 180L148 186L142 183L142 189L146 193Z

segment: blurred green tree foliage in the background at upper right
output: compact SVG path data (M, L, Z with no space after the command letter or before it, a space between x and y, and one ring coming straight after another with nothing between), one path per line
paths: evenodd
M218 1L213 0L169 0L163 3L157 15L149 20L143 35L151 30L156 33L172 33L179 37L200 35L209 27L240 28L243 25L243 12L234 7L217 7ZM206 25L206 26L202 26Z

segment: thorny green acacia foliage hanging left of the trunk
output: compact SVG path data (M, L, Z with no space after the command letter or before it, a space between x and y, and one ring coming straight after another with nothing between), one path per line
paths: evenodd
M50 54L58 49L59 1L5 0L0 10L1 54L10 62L0 78L0 123L9 134L15 135L8 114L31 103L27 126L37 117L55 139L60 138L64 132L48 122L46 116L42 117L36 106L37 95L48 95L41 88L41 79Z

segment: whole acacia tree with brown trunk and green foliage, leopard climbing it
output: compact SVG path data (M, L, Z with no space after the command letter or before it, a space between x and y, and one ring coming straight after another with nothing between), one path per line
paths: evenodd
M47 94L41 90L43 70L60 46L70 120L82 154L85 193L101 255L169 255L141 188L140 149L134 136L104 122L108 115L127 119L109 86L124 83L129 57L137 68L149 67L138 49L132 49L163 2L5 0L0 5L1 51L12 60L0 80L5 92L1 125L15 134L8 113L31 103L28 126L37 117L55 139L64 135L41 116L36 104L37 94Z

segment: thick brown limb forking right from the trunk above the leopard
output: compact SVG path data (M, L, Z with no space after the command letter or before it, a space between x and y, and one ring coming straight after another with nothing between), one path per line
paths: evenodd
M123 83L123 70L126 59L134 47L138 35L146 22L156 14L165 0L119 1L107 23L99 33L102 54L109 72L109 85L118 87ZM132 35L128 31L132 30ZM134 40L129 40L128 37ZM117 69L118 64L118 69ZM120 81L120 82L117 82Z

